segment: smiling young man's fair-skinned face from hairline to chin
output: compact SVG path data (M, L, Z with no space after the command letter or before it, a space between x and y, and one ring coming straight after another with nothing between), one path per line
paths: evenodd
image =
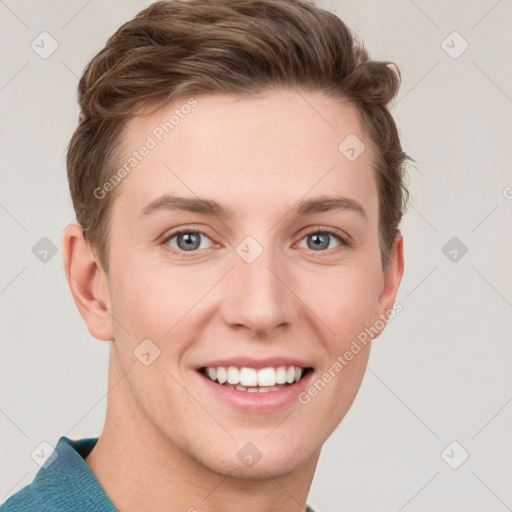
M318 457L354 400L370 343L358 342L350 361L344 354L392 308L401 242L383 272L373 154L354 106L291 90L196 100L169 133L157 127L186 99L126 131L120 166L150 150L117 185L111 215L105 322L112 365L128 373L109 409L119 436L136 431L146 446L214 472L284 475ZM360 146L339 149L350 134L366 144L355 159ZM232 215L172 208L163 198L173 197L214 201ZM341 201L297 209L326 198ZM251 378L252 369L290 365L312 370L265 393L199 371L247 367Z

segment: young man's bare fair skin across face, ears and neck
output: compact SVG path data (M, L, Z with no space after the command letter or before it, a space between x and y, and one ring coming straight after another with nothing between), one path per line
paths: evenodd
M373 154L356 107L288 89L196 99L119 185L108 275L79 226L64 233L75 303L89 332L111 342L105 427L86 463L124 512L148 503L154 511L300 511L322 445L357 394L371 343L307 405L270 413L221 403L194 368L290 355L310 361L320 377L392 309L402 237L383 271ZM133 119L126 156L185 101ZM352 162L338 150L351 133L366 144ZM141 215L165 193L213 199L234 215ZM293 213L302 199L334 194L357 201L366 218L352 210ZM327 236L328 246L310 248L311 234L325 227L348 235L351 246ZM204 233L192 256L169 250L186 252L178 237L165 240L176 228ZM253 263L236 253L247 236L263 248ZM147 338L161 351L150 366L133 354ZM252 468L236 456L246 442L262 453Z

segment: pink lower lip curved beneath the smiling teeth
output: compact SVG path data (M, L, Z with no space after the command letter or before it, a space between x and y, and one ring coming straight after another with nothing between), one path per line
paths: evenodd
M298 403L298 395L308 388L314 371L310 370L299 382L276 391L263 393L250 393L222 386L201 373L197 371L196 373L217 399L245 412L271 412Z

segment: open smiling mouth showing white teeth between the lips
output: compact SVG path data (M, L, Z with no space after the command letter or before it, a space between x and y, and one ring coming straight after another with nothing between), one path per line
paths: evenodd
M313 371L313 368L291 365L266 368L203 366L197 371L224 388L246 393L272 393L300 382Z

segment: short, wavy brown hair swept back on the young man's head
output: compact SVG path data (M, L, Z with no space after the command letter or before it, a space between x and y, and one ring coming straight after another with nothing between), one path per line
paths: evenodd
M409 157L387 108L400 71L370 60L341 19L313 1L155 2L88 64L78 85L81 113L67 172L77 221L106 271L109 213L119 187L104 198L95 190L115 174L123 130L137 110L192 94L244 96L275 87L321 91L358 107L376 155L379 244L387 265L408 196Z

